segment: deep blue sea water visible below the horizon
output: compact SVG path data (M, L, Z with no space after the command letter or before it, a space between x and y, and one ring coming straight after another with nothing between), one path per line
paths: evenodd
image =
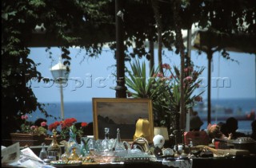
M226 100L211 100L212 107L218 105L226 108L230 108L233 111L241 110L242 113L248 113L252 109L256 110L256 100L255 99L226 99ZM61 107L59 102L51 102L46 104L46 111L50 115L54 115L55 117L61 116ZM64 103L64 116L65 118L74 117L78 120L78 122L93 122L93 105L91 101L88 102L65 102ZM45 118L44 115L40 113L40 111L35 111L30 115L29 120L34 121L38 118ZM60 119L58 119L60 120ZM54 118L47 118L47 123L53 123ZM212 123L224 122L225 120L216 120L212 117ZM207 121L203 120L204 124L202 125L202 129L206 129ZM245 132L246 134L250 134L251 132L251 124L252 120L238 120L238 130Z

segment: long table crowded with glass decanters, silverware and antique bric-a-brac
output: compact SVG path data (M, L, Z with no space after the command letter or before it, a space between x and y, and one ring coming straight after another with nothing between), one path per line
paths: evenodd
M77 142L75 134L70 131L68 141L58 143L56 133L52 143L46 146L30 147L50 167L251 167L256 164L254 150L235 149L231 143L225 149L218 149L214 144L204 144L194 138L182 135L182 143L166 147L162 135L154 139L134 138L132 142L122 140L121 130L116 130L116 137L110 139L110 128L105 127L105 138L94 136L81 138ZM114 130L113 130L114 131ZM149 143L151 142L151 143ZM199 144L198 144L199 142ZM39 149L39 152L36 150Z

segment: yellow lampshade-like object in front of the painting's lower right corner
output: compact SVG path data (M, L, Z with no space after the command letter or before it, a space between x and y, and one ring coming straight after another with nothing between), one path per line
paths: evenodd
M136 123L134 140L138 139L139 137L143 137L147 141L150 141L150 122L148 119L138 119Z

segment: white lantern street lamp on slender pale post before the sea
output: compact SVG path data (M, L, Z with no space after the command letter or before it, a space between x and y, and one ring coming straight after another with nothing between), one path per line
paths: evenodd
M50 68L50 72L54 77L54 82L59 84L61 92L61 117L64 120L64 104L63 104L63 84L66 84L70 71L66 65L62 64L62 57L59 58L58 64Z

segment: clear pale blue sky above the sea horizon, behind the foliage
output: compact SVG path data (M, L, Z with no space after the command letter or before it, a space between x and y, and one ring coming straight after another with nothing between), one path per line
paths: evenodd
M52 79L50 68L58 63L61 50L52 48L51 52L54 61L50 60L45 48L31 48L30 58L35 63L41 63L38 66L38 71L42 72L42 76ZM63 88L64 102L91 101L93 97L115 97L115 91L110 89L116 84L112 75L115 72L114 64L116 64L114 53L109 49L104 49L100 57L90 58L86 56L86 52L83 50L71 48L70 52L72 57L70 80L67 86ZM157 50L155 50L156 55ZM198 55L196 51L192 51L191 55L195 65L206 67L201 76L203 79L202 88L199 88L200 91L206 90L208 71L206 53ZM211 69L211 98L255 98L255 56L246 53L230 53L230 57L239 63L222 58L218 52L214 53ZM166 56L163 56L163 63L179 66L180 59L174 52L166 51ZM218 86L217 77L222 79L222 83ZM57 84L33 82L32 88L39 102L60 102L60 89ZM202 96L206 100L207 91Z

